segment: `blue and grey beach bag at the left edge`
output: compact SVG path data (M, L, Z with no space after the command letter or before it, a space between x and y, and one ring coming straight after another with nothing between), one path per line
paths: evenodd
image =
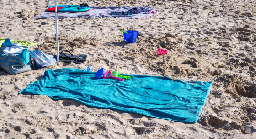
M5 54L3 50L6 47L23 47L25 49L16 53ZM20 46L16 43L12 43L10 39L5 39L5 42L0 47L0 68L4 69L6 72L14 75L18 73L23 73L25 71L30 71L31 69L31 58L30 52L26 46Z

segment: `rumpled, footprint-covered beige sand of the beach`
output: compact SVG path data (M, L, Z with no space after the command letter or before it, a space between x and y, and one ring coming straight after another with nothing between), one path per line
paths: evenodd
M141 20L58 19L59 49L87 54L82 64L63 63L11 75L0 68L0 138L256 138L255 0L58 0L58 5L151 6ZM55 19L34 20L47 0L0 0L0 38L40 43L30 50L57 54ZM50 1L54 5L54 1ZM133 44L122 31L139 31ZM157 50L168 50L157 55ZM196 64L193 64L196 63ZM92 66L122 74L212 81L197 123L98 109L73 100L18 95L46 69ZM164 84L164 82L163 82Z

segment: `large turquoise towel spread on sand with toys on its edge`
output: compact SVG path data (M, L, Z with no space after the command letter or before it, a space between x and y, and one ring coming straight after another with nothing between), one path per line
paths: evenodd
M54 100L71 99L90 107L195 123L212 86L212 82L129 76L130 80L121 82L112 78L97 79L94 72L80 69L47 69L41 80L19 93L47 95Z

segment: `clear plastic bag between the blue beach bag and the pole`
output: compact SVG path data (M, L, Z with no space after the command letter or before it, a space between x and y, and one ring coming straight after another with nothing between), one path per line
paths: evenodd
M30 56L37 62L37 64L44 66L50 66L56 63L56 60L52 55L41 52L40 50L33 50ZM39 67L38 67L39 68Z

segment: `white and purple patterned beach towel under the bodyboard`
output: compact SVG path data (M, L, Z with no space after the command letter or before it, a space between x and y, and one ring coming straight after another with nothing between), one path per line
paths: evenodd
M141 12L133 15L111 15L111 12L127 12L128 10L134 7L94 7L91 6L90 10L87 12L58 12L58 18L86 18L86 17L107 17L107 18L123 18L123 19L142 19L154 16L157 13L157 10L152 7L139 7L148 9L148 12ZM42 19L42 18L55 18L55 12L41 12L41 14L33 17L34 19Z

